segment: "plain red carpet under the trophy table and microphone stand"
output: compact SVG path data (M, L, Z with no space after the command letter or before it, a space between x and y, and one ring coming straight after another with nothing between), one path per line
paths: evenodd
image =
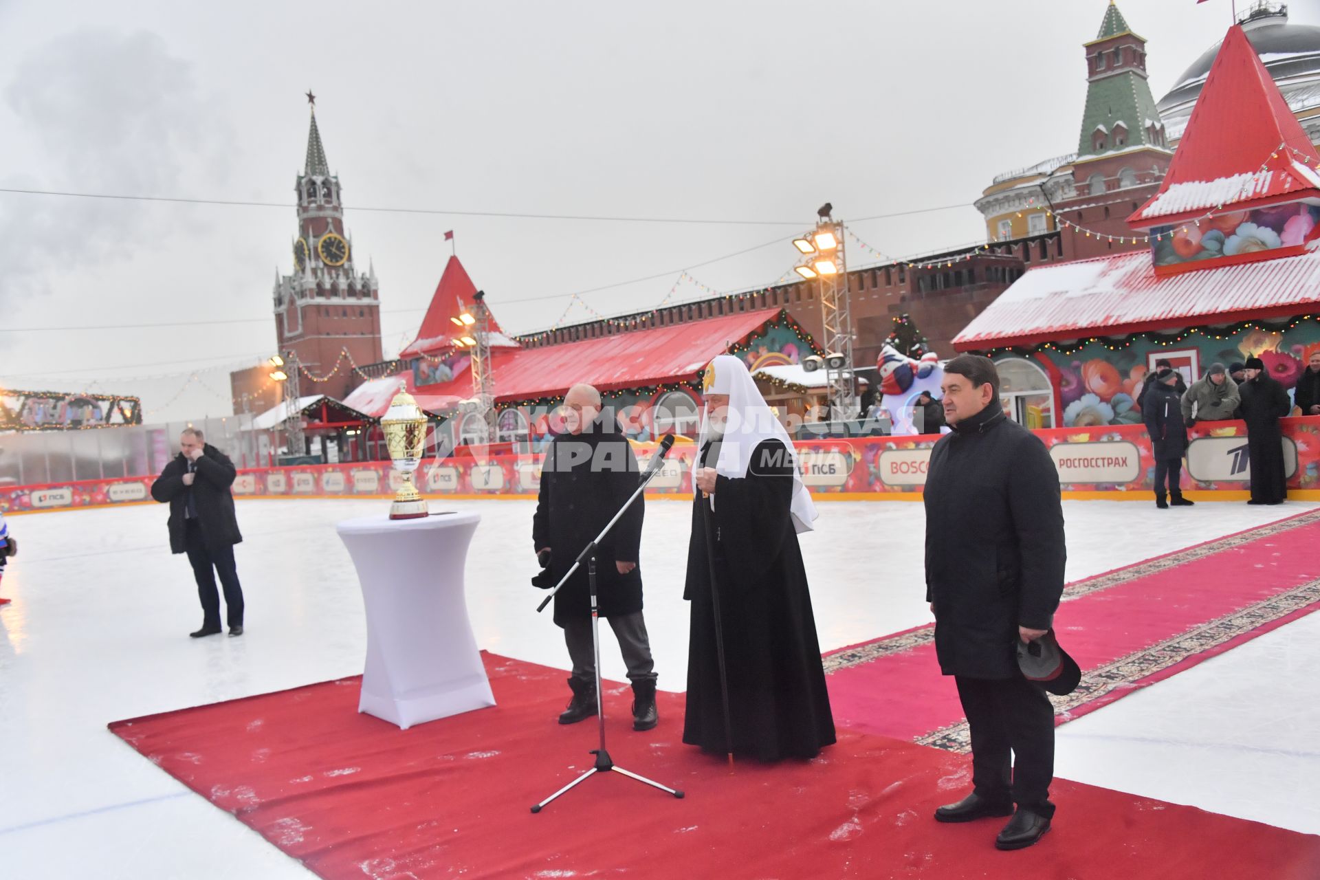
M554 724L562 672L486 664L496 707L408 731L356 712L356 678L111 730L322 877L1320 876L1320 838L1064 781L1055 830L998 852L999 821L931 818L968 788L965 757L841 732L814 761L730 774L678 741L680 695L634 734L616 685L615 760L686 798L610 773L532 815L590 765L595 728Z

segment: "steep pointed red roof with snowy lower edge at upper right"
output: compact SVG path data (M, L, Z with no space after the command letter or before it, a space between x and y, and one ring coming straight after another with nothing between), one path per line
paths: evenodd
M1127 222L1151 228L1193 220L1221 207L1245 210L1320 198L1320 174L1303 158L1320 165L1320 154L1241 25L1233 25L1164 183Z

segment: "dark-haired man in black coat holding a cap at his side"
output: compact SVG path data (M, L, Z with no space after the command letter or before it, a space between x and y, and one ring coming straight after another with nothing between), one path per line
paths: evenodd
M1039 840L1055 813L1055 712L1022 676L1016 644L1049 631L1064 588L1059 472L1044 443L1005 417L989 358L954 358L942 387L953 431L935 445L927 474L925 598L940 672L954 677L968 716L974 788L935 818L1012 814L995 846L1018 850Z

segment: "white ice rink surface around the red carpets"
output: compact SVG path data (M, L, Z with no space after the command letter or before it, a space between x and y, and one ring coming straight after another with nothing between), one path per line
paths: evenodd
M533 504L432 505L482 516L467 566L478 644L565 666L549 611L535 613L544 594L528 584L536 571ZM1072 581L1313 505L1064 507ZM801 542L821 648L927 623L921 505L820 509L817 532ZM202 640L187 637L201 608L186 558L168 550L162 508L12 517L22 554L0 590L13 599L0 607L4 876L309 876L106 724L360 673L362 598L334 524L376 512L384 513L384 503L240 501L247 633ZM667 690L682 689L686 666L681 578L689 521L682 503L647 508L647 625ZM1061 727L1057 774L1320 834L1312 794L1320 790L1317 661L1320 616L1288 624ZM606 676L623 677L609 639L603 666Z

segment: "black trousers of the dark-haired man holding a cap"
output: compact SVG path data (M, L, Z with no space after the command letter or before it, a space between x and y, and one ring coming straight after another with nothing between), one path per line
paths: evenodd
M972 784L994 801L1011 800L1052 817L1055 707L1022 676L1005 679L954 676L972 728Z

